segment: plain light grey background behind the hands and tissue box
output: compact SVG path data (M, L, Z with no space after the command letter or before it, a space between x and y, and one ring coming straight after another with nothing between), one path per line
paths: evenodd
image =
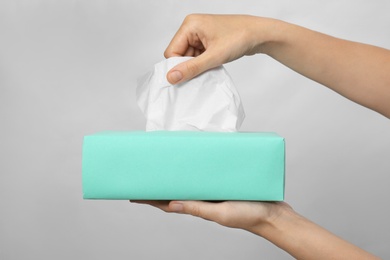
M389 10L386 0L1 1L0 259L290 259L241 230L83 201L83 136L144 129L136 78L189 13L270 16L390 48ZM241 130L286 138L286 201L390 258L389 120L263 55L226 67Z

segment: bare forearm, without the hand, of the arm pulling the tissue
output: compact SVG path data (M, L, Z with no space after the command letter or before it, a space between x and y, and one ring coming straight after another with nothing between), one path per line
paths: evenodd
M389 50L277 20L271 30L259 52L390 118Z

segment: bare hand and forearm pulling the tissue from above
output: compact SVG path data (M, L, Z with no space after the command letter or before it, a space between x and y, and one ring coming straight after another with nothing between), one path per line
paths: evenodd
M171 83L244 55L267 54L296 72L390 118L390 51L337 39L283 21L191 15L165 51L195 56L168 73Z

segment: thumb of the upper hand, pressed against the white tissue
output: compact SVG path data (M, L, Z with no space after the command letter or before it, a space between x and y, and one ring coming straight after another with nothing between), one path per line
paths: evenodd
M205 51L201 55L173 67L167 73L167 80L171 84L182 83L221 64Z

